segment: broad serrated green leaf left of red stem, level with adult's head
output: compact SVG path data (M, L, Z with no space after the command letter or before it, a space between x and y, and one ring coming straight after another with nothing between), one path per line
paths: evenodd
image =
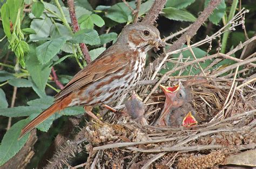
M36 54L41 64L49 62L65 44L66 38L61 37L46 41L46 43L36 47Z

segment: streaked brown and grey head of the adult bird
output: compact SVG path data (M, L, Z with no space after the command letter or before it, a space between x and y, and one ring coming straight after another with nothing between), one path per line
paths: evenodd
M158 29L145 23L126 25L117 41L127 44L133 51L141 50L142 52L147 52L153 47L159 50L159 47L165 46Z

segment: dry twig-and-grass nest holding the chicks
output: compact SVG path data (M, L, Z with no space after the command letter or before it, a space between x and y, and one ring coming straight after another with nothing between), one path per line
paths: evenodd
M86 166L203 168L242 164L242 160L232 158L256 146L255 93L239 90L232 82L211 79L185 79L183 83L191 90L198 125L140 125L129 117L110 113L114 117L105 116L104 124L91 122L84 129L89 142L85 146L89 152ZM170 81L165 85L170 85ZM160 92L145 103L145 118L150 124L158 118L163 103L164 94Z

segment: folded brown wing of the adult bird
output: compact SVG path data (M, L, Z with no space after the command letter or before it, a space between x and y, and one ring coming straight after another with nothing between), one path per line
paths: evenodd
M70 82L55 96L55 100L77 90L91 82L117 72L128 64L127 53L106 50L96 60L80 70Z

